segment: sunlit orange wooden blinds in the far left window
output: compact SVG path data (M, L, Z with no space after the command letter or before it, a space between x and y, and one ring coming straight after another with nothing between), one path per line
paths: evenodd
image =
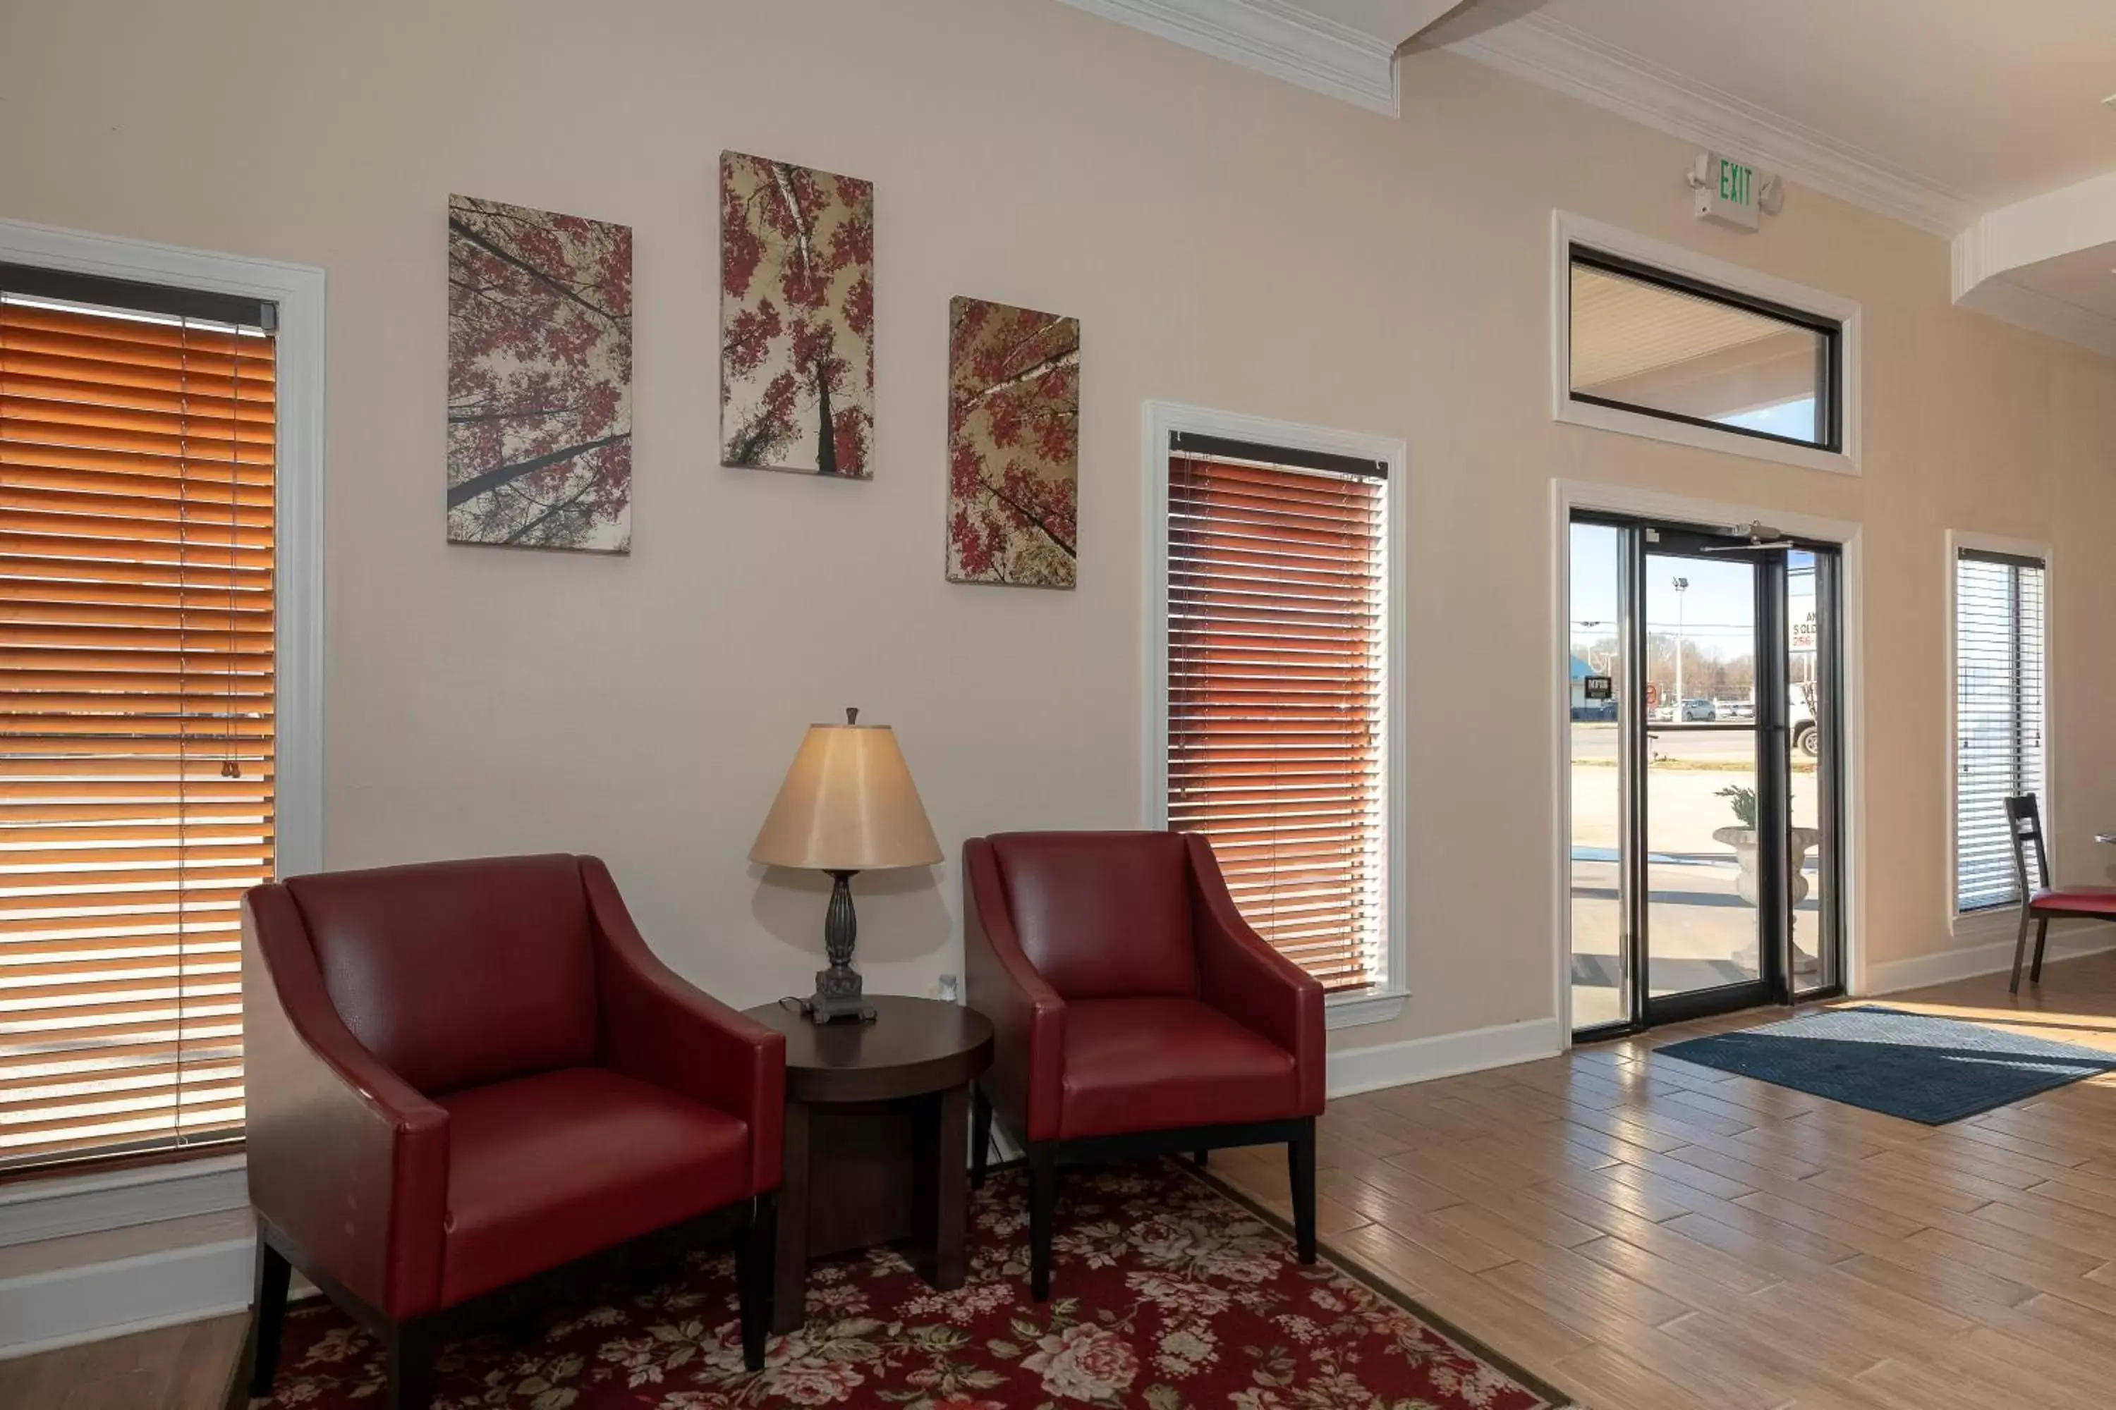
M241 1129L273 338L0 283L0 1167Z

